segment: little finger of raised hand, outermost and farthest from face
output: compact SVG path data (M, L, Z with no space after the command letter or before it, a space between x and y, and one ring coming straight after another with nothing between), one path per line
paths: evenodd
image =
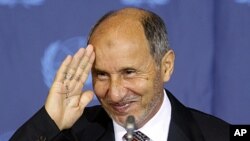
M67 72L67 68L70 65L70 62L72 60L72 56L68 55L64 61L62 62L61 66L59 67L57 73L56 73L56 77L55 77L55 81L56 82L63 82L64 78L65 78L65 74Z

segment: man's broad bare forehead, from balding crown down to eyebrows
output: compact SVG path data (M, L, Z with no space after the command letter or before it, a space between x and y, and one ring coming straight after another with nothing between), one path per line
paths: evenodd
M96 65L110 61L116 65L142 63L151 56L142 25L131 18L105 21L92 34L90 44L94 46Z

